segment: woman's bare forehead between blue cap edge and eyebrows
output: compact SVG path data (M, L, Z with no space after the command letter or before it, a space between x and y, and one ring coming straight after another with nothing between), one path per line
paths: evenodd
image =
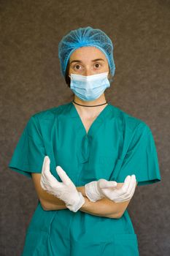
M74 52L70 56L70 61L74 59L89 61L89 60L99 59L99 58L107 61L104 53L98 48L93 46L84 46L84 47L78 48L77 50L74 50Z

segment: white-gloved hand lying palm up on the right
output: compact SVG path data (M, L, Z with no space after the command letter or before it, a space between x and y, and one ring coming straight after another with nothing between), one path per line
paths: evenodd
M107 181L101 178L98 181L91 181L85 184L85 195L92 202L96 202L96 200L100 200L103 197L107 197L115 203L125 202L134 195L136 176L127 176L120 189L116 189L116 186L116 181Z

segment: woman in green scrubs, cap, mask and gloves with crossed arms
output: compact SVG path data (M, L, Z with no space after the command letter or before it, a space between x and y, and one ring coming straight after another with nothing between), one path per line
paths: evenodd
M127 206L136 185L161 181L152 132L105 99L115 63L104 31L70 31L58 52L74 99L31 116L9 162L39 197L22 255L139 255Z

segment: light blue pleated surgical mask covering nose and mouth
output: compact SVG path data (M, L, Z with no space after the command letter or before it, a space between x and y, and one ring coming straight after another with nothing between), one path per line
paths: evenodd
M96 75L71 74L70 89L82 100L98 99L105 89L110 86L107 78L109 72Z

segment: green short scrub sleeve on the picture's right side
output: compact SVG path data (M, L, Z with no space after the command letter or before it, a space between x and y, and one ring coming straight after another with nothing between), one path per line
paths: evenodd
M142 132L135 132L116 181L122 183L132 174L135 174L138 186L161 181L155 141L147 125Z

